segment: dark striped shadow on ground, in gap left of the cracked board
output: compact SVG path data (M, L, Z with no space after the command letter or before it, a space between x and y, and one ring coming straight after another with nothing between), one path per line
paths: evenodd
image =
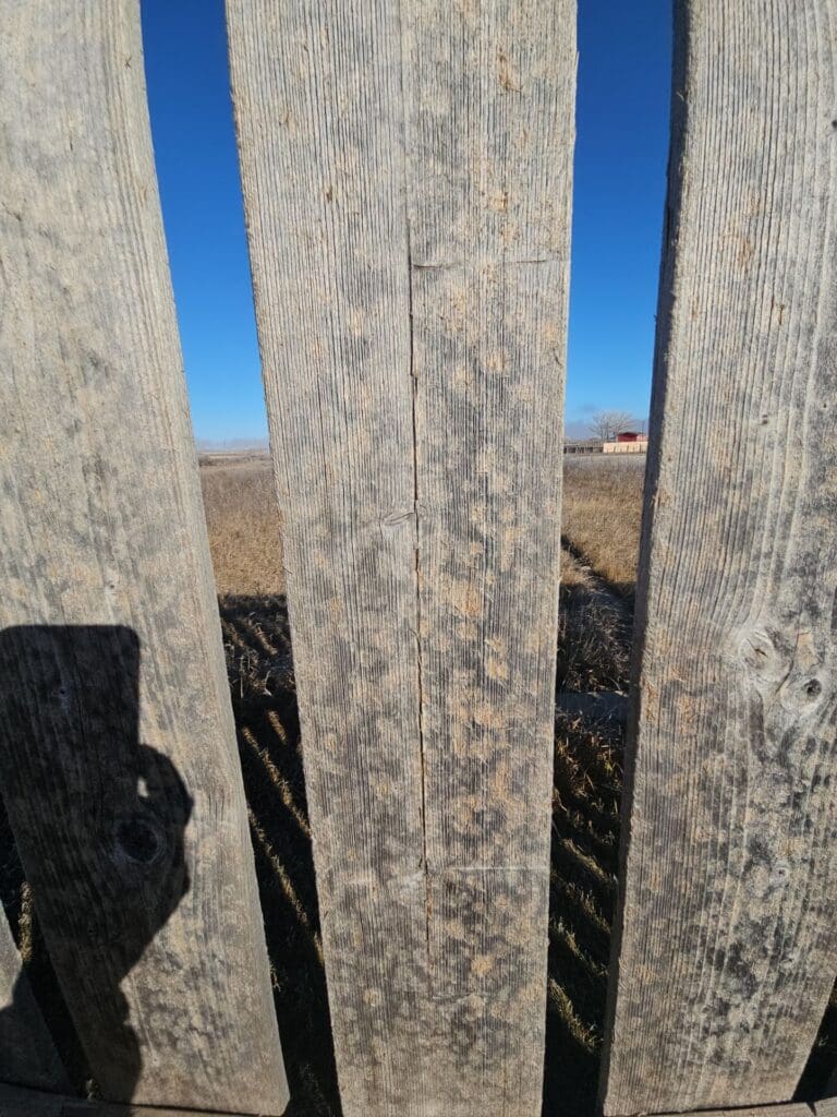
M289 1117L339 1114L283 598L221 602Z

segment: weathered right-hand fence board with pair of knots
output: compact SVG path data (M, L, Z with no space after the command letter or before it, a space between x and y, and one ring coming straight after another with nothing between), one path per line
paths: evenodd
M837 970L836 44L677 6L607 1114L790 1098Z

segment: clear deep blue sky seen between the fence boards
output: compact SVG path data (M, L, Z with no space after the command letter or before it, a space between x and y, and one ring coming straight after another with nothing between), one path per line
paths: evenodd
M545 0L549 2L549 0ZM568 433L647 414L671 0L579 0ZM142 0L154 151L195 435L267 435L222 0Z

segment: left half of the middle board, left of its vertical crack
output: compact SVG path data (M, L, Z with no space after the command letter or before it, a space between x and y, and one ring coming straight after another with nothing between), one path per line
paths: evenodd
M340 1095L407 1117L432 1083L398 11L227 10Z

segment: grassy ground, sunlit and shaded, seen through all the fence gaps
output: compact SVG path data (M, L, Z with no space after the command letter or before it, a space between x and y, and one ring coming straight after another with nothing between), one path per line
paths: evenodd
M616 903L623 732L643 465L566 461L545 1115L591 1117ZM210 547L292 1117L340 1113L281 561L267 458L205 458ZM0 818L0 898L65 1061L95 1092ZM829 1009L801 1097L835 1062Z

